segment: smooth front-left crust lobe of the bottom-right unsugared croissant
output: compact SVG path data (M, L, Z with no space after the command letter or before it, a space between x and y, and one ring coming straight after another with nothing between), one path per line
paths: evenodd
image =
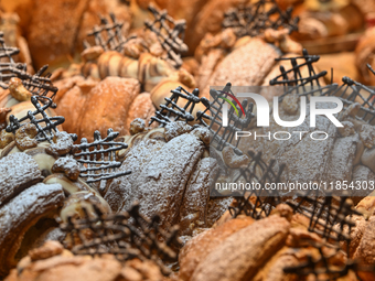
M282 247L289 228L289 221L279 216L242 228L211 251L190 280L251 280L259 267Z

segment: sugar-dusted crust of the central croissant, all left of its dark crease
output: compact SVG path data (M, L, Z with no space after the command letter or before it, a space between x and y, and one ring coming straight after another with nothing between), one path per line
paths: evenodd
M114 182L110 190L124 192L120 194L122 209L138 201L140 213L149 217L160 214L162 226L175 224L189 176L202 158L204 145L190 133L175 137L165 144L153 140L150 147L152 140L148 141L139 142L121 166L133 173L118 181L117 187Z

